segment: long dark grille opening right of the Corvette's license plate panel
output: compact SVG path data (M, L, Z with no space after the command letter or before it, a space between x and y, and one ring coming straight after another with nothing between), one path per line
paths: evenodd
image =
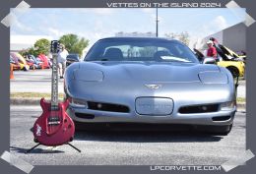
M207 113L207 112L217 112L218 110L219 110L219 104L207 104L207 105L180 107L179 113L181 114Z

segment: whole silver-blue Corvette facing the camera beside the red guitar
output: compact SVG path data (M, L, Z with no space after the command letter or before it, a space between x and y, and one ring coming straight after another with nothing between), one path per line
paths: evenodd
M193 125L227 135L236 110L228 70L199 63L186 45L165 38L100 39L64 82L77 124Z

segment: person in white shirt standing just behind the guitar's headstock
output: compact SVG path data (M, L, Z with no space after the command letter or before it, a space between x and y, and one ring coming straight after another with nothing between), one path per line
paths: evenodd
M65 49L65 45L60 45L60 51L58 53L58 69L60 79L63 79L63 75L66 69L66 58L69 55L68 51Z

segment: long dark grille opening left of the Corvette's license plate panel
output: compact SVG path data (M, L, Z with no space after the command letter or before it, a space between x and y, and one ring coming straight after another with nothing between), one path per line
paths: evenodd
M88 101L88 108L92 110L129 113L129 107L120 104L109 104Z

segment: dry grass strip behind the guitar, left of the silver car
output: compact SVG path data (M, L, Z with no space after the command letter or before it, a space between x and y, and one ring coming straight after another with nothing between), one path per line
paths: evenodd
M59 93L59 99L63 99L64 93ZM50 98L50 93L37 93L37 92L12 92L11 98Z

